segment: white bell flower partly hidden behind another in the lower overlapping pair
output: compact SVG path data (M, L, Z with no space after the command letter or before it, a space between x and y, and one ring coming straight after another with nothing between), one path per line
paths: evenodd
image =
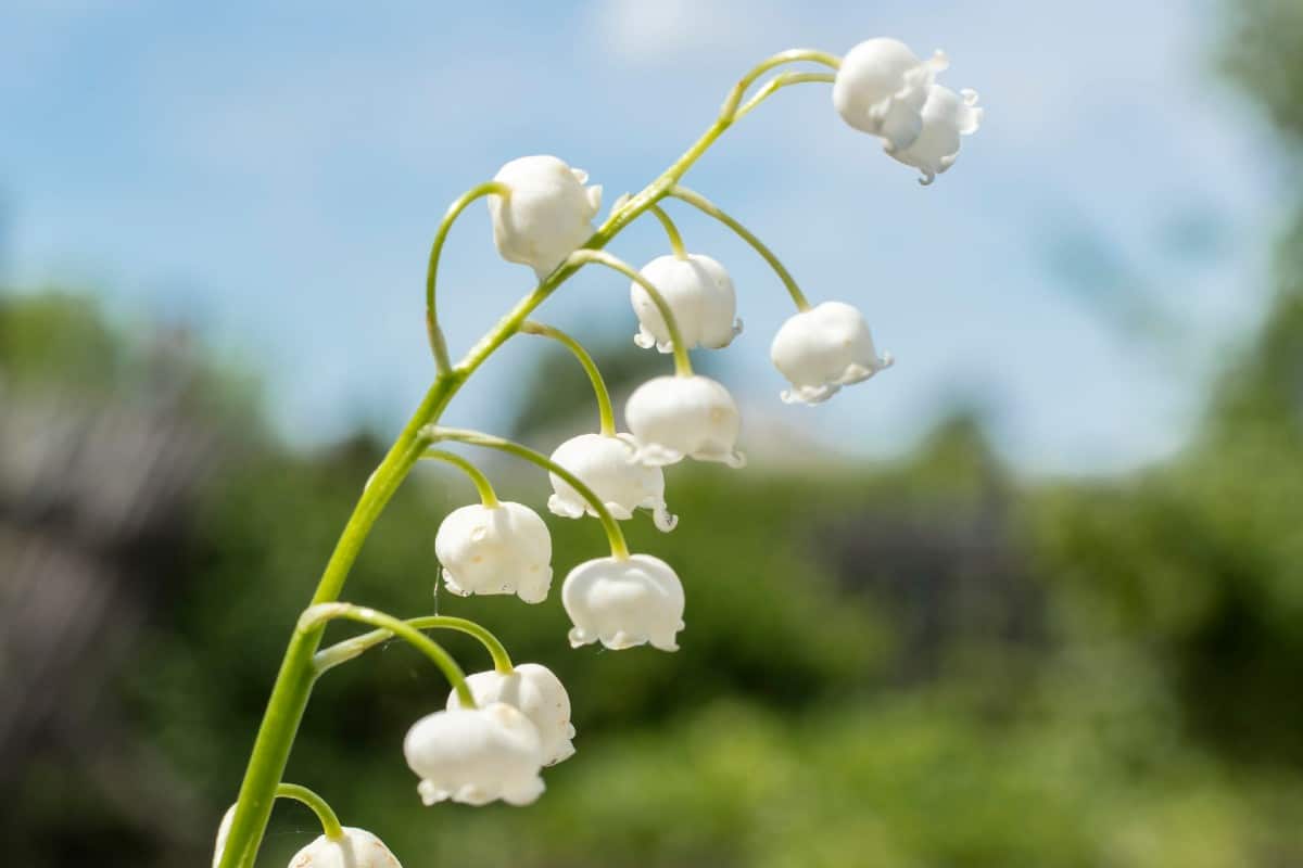
M507 703L538 729L543 765L555 765L575 755L575 726L569 718L569 694L547 666L517 664L511 674L495 669L466 675L466 687L477 705ZM457 691L448 695L448 711L463 708Z

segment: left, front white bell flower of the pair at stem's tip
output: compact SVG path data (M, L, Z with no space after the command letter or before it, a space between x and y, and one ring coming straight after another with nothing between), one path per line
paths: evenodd
M887 152L909 147L923 130L921 111L945 53L919 60L898 39L861 42L842 59L833 81L833 105L855 129L881 137Z

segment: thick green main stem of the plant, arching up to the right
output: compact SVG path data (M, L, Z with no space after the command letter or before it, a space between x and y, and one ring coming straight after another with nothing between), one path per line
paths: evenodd
M638 215L663 199L668 190L683 178L701 155L710 150L710 146L732 125L731 115L740 104L747 87L766 70L779 64L797 60L810 60L834 68L840 62L831 55L813 51L783 52L761 62L734 87L719 116L706 128L701 137L652 183L629 198L620 208L614 210L598 230L584 242L584 249L601 250L611 243L611 239L624 226L636 220ZM472 195L472 193L474 190L466 195ZM493 190L482 190L480 195L491 193ZM469 200L461 206L461 210L468 203ZM453 211L460 212L456 203L450 208L450 213ZM444 221L447 223L447 219ZM447 236L446 229L443 234ZM437 243L442 249L443 242L437 238ZM431 260L438 258L435 254L437 251L431 249ZM344 531L335 544L335 550L326 565L326 571L317 584L317 591L313 595L314 604L330 603L339 599L344 583L348 580L349 570L357 560L357 553L370 534L371 526L379 518L380 511L397 489L399 483L403 481L403 478L426 446L423 441L418 442L420 431L439 419L448 401L470 375L520 329L521 323L529 319L529 315L539 305L547 301L580 268L581 263L562 263L533 292L516 302L516 306L470 347L456 367L451 370L440 367L439 376L430 387L430 390L421 401L412 419L408 420L407 427L404 427L397 440L390 448L380 466L377 467L370 484L362 492L357 506L353 509L353 514L344 526ZM435 362L442 366L442 360L447 358L448 350L435 315L433 272L426 278L426 311ZM614 524L614 519L611 523ZM618 530L619 527L616 526ZM618 539L623 544L623 535ZM249 765L245 769L244 782L240 785L240 796L231 824L231 834L227 838L227 847L219 868L253 867L258 848L262 845L263 832L267 828L267 817L271 816L271 804L275 799L276 786L280 785L294 735L298 733L298 724L302 721L304 709L308 707L308 700L311 696L314 681L313 655L317 652L319 644L319 629L308 634L294 631L289 639L285 657L280 664L276 682L267 700L267 709L263 712L262 724L259 724L258 734L254 738L253 751L249 755Z

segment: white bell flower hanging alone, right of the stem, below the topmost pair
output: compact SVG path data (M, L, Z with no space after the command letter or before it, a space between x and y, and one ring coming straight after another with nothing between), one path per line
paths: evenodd
M787 403L827 401L843 385L868 380L893 362L890 353L878 358L864 316L843 302L822 302L788 318L769 357L792 384L782 393Z

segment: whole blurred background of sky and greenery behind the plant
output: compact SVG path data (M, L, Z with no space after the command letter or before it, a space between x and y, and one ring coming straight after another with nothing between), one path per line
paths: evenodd
M739 286L747 331L700 362L752 458L672 468L680 527L628 526L684 578L681 651L571 651L555 595L431 599L473 492L421 468L348 597L482 619L569 686L579 753L528 809L422 808L401 737L447 688L390 644L323 679L288 778L409 867L1303 865L1298 0L4 4L5 864L207 864L291 625L431 375L448 200L528 152L611 200L760 57L880 34L945 47L988 105L934 186L816 86L688 177L899 362L780 405L779 284L681 213ZM444 262L453 349L529 288L478 208ZM667 364L609 275L541 319L618 394ZM520 340L448 418L546 450L594 410ZM538 474L485 466L541 508ZM601 553L550 523L558 575ZM262 864L313 826L279 808Z

